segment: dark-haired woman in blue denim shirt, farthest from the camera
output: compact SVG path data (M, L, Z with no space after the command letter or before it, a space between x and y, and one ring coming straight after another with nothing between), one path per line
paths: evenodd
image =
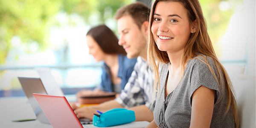
M94 92L105 91L120 93L134 70L137 58L128 59L125 49L119 46L116 35L105 25L90 29L86 35L89 54L95 61L104 61L102 81ZM82 96L87 91L80 91Z

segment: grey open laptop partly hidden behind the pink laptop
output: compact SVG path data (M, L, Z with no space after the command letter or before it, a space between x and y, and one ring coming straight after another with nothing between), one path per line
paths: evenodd
M24 93L26 94L27 98L29 99L29 103L33 108L33 111L35 112L35 115L37 119L40 122L43 123L49 123L49 120L47 119L47 116L45 116L44 112L42 111L40 105L38 105L38 102L36 101L35 97L33 96L33 93L38 94L45 94L47 95L47 91L44 88L43 83L41 82L40 78L29 78L29 77L18 77L20 84L23 88ZM61 106L60 106L61 108ZM82 124L88 124L92 123L90 119L79 119L79 121Z

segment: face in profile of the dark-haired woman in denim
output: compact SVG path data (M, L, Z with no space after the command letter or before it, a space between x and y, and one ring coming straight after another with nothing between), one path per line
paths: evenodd
M89 48L89 54L93 55L96 62L104 60L105 52L99 47L99 44L93 39L92 36L86 36L87 46Z

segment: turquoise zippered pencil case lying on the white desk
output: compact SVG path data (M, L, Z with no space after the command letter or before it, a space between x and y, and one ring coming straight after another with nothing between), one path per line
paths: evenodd
M97 127L110 127L135 121L135 113L125 108L115 108L98 116L93 116L93 125Z

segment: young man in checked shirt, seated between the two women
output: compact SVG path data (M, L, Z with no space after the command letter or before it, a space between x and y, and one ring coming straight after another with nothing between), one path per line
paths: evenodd
M137 2L124 6L116 12L119 45L127 52L128 58L137 58L134 71L131 74L125 89L115 100L104 102L94 107L79 108L72 105L78 118L93 119L93 113L108 111L113 108L128 108L135 112L136 121L151 122L153 109L150 110L153 96L153 73L146 62L147 34L149 9L143 3Z

